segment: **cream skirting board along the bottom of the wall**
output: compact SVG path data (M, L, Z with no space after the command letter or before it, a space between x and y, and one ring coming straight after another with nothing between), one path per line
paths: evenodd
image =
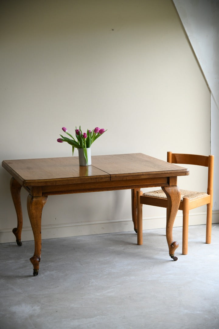
M183 215L177 215L174 227L182 226ZM219 210L212 212L212 223L219 223ZM206 212L189 215L189 225L206 224ZM166 218L150 217L143 218L143 230L151 230L166 227ZM92 221L67 224L42 225L42 239L66 238L81 235L93 235L102 233L128 232L133 231L132 220L122 219L114 221ZM33 240L31 227L23 227L22 241ZM0 243L14 242L15 236L12 228L0 230Z

